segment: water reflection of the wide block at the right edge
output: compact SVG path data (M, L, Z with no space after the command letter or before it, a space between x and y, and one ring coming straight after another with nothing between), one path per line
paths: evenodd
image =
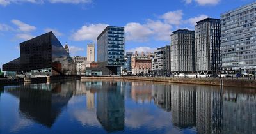
M256 92L224 88L223 133L256 132Z

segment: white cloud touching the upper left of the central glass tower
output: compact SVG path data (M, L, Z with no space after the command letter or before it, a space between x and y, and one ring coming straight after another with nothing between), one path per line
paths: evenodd
M71 39L75 41L97 40L97 36L108 26L108 24L84 25L81 29L72 34Z

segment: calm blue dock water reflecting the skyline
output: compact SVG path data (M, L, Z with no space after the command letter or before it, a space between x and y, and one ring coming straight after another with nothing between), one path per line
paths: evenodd
M256 133L255 96L151 82L4 86L0 133Z

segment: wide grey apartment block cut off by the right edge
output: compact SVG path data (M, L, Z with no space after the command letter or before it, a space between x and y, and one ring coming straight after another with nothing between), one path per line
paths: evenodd
M256 68L256 2L221 14L223 70Z

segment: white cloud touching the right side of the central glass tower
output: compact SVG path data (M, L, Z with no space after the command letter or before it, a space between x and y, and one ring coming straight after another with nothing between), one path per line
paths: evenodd
M147 25L131 22L125 26L125 38L127 41L147 41L148 36L154 32Z

